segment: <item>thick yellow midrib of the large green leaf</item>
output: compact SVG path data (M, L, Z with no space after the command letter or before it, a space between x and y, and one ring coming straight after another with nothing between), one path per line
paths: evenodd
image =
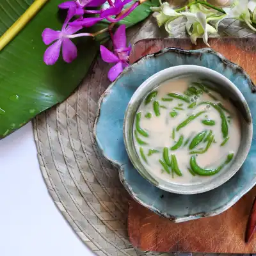
M36 13L47 3L48 0L35 0L31 6L24 12L19 19L4 33L0 38L0 51L13 40L13 38L22 30L29 20L31 20Z

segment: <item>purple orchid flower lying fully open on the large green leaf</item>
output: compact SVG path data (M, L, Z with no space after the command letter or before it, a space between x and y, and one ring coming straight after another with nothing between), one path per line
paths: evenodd
M65 19L61 31L55 31L50 28L44 29L42 33L42 39L44 44L49 45L52 42L56 41L54 42L54 44L49 46L44 53L44 62L47 65L53 65L54 63L56 63L60 56L61 46L63 60L67 63L72 62L74 59L77 58L77 48L76 45L72 43L69 38L74 38L78 36L91 36L91 34L89 33L72 35L83 28L82 26L68 26L69 20L74 17L75 13L76 8L74 6L71 6L68 9L67 18Z

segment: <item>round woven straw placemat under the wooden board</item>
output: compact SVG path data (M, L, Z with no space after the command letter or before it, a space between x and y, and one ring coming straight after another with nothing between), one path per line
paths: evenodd
M129 42L160 36L153 23L151 17L132 28L127 35ZM230 21L229 27L234 29L232 24ZM177 37L184 35L177 29ZM140 252L132 247L127 235L131 198L119 180L118 170L100 156L95 145L93 122L99 97L109 86L109 67L98 58L90 74L65 102L35 118L42 175L64 218L96 255L173 255Z

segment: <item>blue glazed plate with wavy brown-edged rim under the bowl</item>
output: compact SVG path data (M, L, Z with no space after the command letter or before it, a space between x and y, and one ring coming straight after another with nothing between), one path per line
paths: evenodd
M198 195L179 195L163 191L144 179L125 150L125 110L134 92L148 77L177 65L197 65L223 74L243 93L252 120L256 118L256 89L243 68L211 49L184 51L167 48L141 58L109 86L99 101L94 135L102 154L118 166L120 180L134 200L161 216L182 222L220 214L256 184L256 129L253 124L252 146L239 172L216 189Z

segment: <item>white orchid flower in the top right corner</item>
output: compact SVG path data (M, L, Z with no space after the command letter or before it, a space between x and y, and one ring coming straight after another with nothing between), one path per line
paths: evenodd
M253 0L252 4L250 4L251 8L253 8L253 2L255 2L255 0ZM232 3L233 3L232 8L229 8L229 7L223 8L223 10L225 11L225 13L227 13L227 15L225 15L225 17L223 17L222 19L218 20L218 22L216 23L216 28L218 28L218 25L220 24L221 20L229 18L229 19L237 19L237 20L244 21L250 29L252 29L253 31L256 31L256 28L252 26L248 0L243 0L243 1L235 0L235 1L232 1Z

